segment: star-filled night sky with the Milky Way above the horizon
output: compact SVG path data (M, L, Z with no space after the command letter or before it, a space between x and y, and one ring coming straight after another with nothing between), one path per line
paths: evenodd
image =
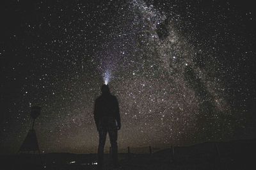
M1 154L19 150L33 105L41 151L95 153L105 81L120 149L255 137L252 1L1 3Z

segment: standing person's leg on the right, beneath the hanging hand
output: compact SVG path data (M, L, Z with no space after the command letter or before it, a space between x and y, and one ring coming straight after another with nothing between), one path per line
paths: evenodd
M117 130L109 130L109 139L111 143L111 152L114 167L118 166L118 148L117 148Z

